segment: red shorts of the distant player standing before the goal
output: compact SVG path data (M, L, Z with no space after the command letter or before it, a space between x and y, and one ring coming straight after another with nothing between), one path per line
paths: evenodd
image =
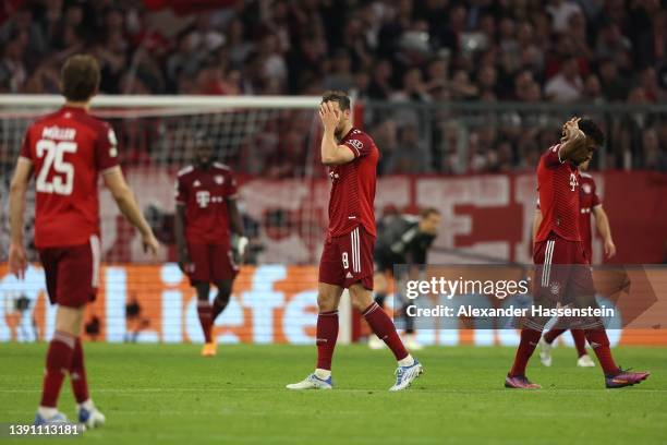
M187 272L192 285L195 281L218 282L234 279L239 273L229 244L187 243L187 253L192 262Z

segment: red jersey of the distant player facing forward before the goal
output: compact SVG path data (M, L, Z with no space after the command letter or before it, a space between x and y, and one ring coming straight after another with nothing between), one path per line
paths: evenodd
M189 166L179 171L177 204L185 206L185 239L193 244L229 244L228 199L237 197L237 179L225 164L207 170Z

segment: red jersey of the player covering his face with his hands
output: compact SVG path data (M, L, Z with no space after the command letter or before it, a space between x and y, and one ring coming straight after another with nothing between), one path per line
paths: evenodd
M356 128L350 130L339 145L350 148L354 159L329 168L332 185L327 237L347 234L360 224L375 237L373 203L379 151L371 136Z

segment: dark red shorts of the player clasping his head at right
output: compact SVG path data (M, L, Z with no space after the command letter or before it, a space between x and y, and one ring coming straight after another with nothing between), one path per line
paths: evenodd
M536 268L535 297L548 297L569 304L595 294L591 265L581 241L568 241L556 233L536 242L533 250Z

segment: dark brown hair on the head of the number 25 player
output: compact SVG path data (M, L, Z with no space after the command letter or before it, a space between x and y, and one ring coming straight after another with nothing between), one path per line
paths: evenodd
M60 72L62 95L70 101L87 101L97 93L99 79L99 64L93 56L72 56Z

